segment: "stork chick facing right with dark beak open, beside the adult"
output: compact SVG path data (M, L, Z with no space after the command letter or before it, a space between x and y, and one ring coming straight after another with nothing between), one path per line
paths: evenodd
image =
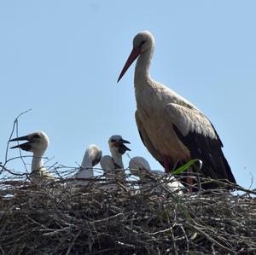
M119 183L125 183L125 170L122 156L126 151L130 151L130 148L125 146L125 143L130 143L122 138L122 136L114 135L108 140L108 146L111 156L103 156L100 164L104 175L108 182L107 189L116 189L117 185L113 182L119 181Z

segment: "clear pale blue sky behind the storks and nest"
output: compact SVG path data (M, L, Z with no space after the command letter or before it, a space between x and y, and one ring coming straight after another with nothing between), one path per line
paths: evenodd
M137 132L134 65L116 83L133 37L148 30L152 78L211 119L237 183L248 188L256 177L255 9L236 0L0 1L0 161L15 117L32 108L19 135L44 130L49 164L76 166L90 143L109 154L108 138L119 134L131 157L162 169ZM20 160L8 167L24 171Z

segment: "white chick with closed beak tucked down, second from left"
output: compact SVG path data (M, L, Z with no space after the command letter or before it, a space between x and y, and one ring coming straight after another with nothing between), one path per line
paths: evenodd
M86 149L79 172L76 178L94 177L93 166L97 165L102 159L102 150L96 144L90 144Z

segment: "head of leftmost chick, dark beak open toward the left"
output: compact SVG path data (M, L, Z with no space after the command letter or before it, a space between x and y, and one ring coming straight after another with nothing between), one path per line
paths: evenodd
M11 139L10 142L28 141L18 144L12 148L21 148L34 154L44 154L49 144L49 138L43 131L36 131L26 136Z

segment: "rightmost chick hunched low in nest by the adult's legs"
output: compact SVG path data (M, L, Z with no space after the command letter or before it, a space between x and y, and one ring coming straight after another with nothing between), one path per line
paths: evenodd
M168 177L163 171L151 170L148 161L143 157L132 158L129 162L129 169L131 174L140 178L143 191L162 193L163 186L177 194L183 194L183 190L185 190L183 184L177 181L175 177ZM152 180L154 177L157 179L160 177L160 183L154 182ZM163 179L163 177L166 178Z

